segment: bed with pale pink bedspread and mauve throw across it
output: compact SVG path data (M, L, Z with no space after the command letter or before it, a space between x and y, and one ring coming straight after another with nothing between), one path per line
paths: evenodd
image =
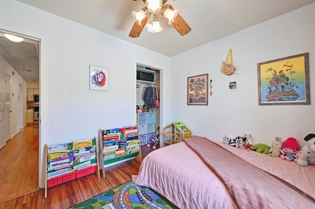
M200 136L151 152L132 181L180 209L315 206L314 165L302 167Z

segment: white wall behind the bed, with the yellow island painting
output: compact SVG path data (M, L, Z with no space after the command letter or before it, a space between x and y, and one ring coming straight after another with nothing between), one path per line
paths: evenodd
M237 24L237 23L235 23ZM237 75L221 73L229 49ZM258 105L257 63L309 52L311 105ZM171 58L171 119L192 134L222 141L224 134L252 134L254 143L271 146L315 132L315 3L252 26ZM208 73L213 96L208 106L187 105L187 77ZM175 79L176 78L176 79ZM210 79L209 78L209 79ZM237 88L229 90L229 81Z

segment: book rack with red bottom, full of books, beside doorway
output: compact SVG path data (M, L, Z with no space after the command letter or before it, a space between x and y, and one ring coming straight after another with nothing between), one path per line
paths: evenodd
M99 178L96 137L53 146L45 145L47 188L95 173Z

